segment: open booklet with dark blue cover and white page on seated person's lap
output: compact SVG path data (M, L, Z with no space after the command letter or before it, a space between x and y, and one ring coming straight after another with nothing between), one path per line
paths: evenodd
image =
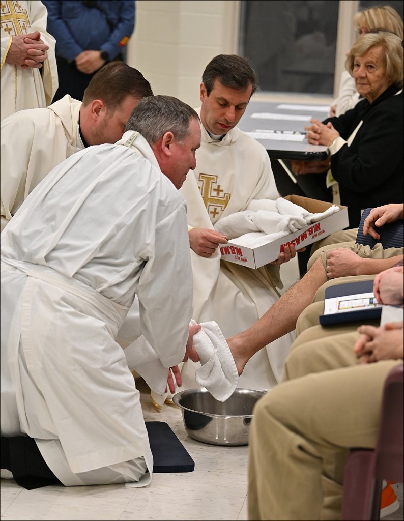
M338 284L325 290L324 315L320 316L320 324L377 320L382 308L373 293L373 280Z

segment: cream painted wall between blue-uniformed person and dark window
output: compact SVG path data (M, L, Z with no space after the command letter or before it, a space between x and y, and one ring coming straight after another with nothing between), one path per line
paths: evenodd
M237 53L237 0L138 0L128 63L154 94L199 106L199 85L217 54Z

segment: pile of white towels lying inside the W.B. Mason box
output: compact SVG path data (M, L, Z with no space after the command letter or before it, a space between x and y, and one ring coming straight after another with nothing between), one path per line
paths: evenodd
M248 205L247 210L219 219L215 230L226 235L229 240L237 238L238 244L242 246L258 246L262 241L275 241L338 211L339 207L332 205L325 212L312 214L283 197L276 201L255 199ZM260 232L256 235L258 243L254 237L256 232ZM243 237L246 234L248 237Z

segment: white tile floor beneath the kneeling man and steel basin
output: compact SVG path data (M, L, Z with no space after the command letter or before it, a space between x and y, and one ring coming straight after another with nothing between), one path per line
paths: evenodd
M282 267L286 288L298 278L297 262ZM181 412L166 406L158 412L138 380L145 420L165 421L195 462L191 473L155 474L150 486L46 487L25 490L13 480L1 480L1 517L8 520L247 520L248 447L224 447L189 438ZM292 493L292 491L291 491ZM400 509L385 521L403 519Z

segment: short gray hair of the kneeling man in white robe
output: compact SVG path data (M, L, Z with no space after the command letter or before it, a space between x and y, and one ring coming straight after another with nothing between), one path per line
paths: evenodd
M143 98L132 110L125 132L139 132L150 145L161 139L166 132L173 132L176 140L182 141L189 133L192 118L200 122L195 110L177 98L150 96Z

